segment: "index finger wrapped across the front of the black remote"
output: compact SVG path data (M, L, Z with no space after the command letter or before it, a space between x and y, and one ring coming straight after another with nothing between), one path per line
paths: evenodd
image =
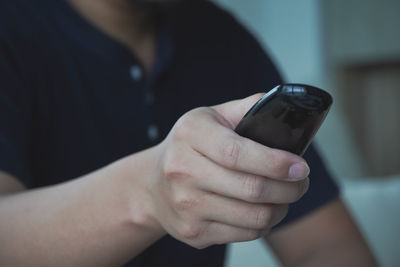
M197 133L207 138L196 138L196 151L221 166L245 173L292 181L308 176L309 168L303 158L242 137L220 124L220 120L214 118L211 125L198 129Z

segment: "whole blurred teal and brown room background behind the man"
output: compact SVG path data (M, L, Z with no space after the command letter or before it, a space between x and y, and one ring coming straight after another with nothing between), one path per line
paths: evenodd
M253 32L286 82L333 95L316 142L380 266L400 266L400 1L214 2ZM227 267L280 266L261 241L233 244L227 257Z

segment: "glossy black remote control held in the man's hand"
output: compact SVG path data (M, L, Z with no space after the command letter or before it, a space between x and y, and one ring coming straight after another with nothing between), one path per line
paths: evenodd
M303 155L331 104L331 95L317 87L278 85L254 104L235 131L265 146Z

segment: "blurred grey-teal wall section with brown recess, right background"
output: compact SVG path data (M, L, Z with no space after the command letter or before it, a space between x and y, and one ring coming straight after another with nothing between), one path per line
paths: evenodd
M400 172L400 1L322 1L326 68L372 176Z

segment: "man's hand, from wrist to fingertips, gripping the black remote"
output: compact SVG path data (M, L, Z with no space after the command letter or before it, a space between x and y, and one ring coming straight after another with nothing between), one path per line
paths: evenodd
M156 148L154 217L178 240L204 248L257 239L306 192L302 158L233 131L260 97L192 110Z

